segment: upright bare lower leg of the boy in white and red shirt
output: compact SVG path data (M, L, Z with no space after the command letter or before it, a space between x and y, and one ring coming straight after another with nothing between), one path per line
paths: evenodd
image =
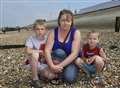
M32 59L31 59L31 66L32 66L32 79L33 80L38 80L38 58L39 58L39 53L33 53L32 54Z

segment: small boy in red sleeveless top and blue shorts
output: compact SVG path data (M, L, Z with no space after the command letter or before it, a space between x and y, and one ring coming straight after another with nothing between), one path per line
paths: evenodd
M82 48L82 59L78 58L76 64L83 67L89 76L101 72L105 66L107 57L103 48L99 45L99 33L92 31L87 35L87 42Z

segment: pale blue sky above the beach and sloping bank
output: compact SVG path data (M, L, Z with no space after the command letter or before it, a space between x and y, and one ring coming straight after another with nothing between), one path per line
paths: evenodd
M36 19L57 19L60 10L80 9L110 0L0 0L0 27L32 24Z

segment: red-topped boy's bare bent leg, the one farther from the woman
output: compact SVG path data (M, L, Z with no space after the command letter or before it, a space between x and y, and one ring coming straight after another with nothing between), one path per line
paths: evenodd
M103 61L103 58L100 57L100 56L97 56L97 55L96 55L96 56L94 56L93 58L95 58L96 70L97 70L97 72L99 73L99 72L102 71L105 63L104 63L104 61Z

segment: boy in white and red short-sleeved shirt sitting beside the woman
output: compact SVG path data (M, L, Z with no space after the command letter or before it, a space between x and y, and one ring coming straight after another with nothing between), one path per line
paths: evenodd
M47 29L45 23L42 21L35 22L33 26L33 31L35 32L35 35L30 36L26 40L25 44L27 57L29 58L27 59L25 64L27 66L31 66L32 82L34 87L41 88L42 85L40 84L38 78L38 72L40 73L40 75L49 79L54 78L55 75L50 72L47 64L42 63L45 61L44 48L47 40Z

